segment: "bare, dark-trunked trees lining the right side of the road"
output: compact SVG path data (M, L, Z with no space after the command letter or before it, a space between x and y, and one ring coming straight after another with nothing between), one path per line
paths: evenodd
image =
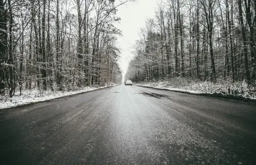
M126 79L256 80L256 1L163 0L134 45Z

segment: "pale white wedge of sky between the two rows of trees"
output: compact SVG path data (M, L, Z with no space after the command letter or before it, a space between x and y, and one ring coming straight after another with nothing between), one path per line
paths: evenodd
M123 74L126 73L128 63L132 59L132 45L140 39L140 28L145 25L146 18L155 16L158 0L137 0L128 2L117 8L116 16L121 18L120 23L115 26L122 30L123 36L118 37L118 47L121 48L121 58L119 60L120 68ZM116 4L120 4L116 0Z

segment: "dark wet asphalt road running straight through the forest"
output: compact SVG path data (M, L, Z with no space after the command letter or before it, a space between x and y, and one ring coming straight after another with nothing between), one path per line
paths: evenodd
M10 109L0 164L256 165L256 105L120 85Z

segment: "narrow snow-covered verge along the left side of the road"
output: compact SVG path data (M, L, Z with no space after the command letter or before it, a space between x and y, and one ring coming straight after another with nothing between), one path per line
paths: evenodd
M117 84L111 84L109 86L116 86ZM75 91L39 91L39 90L26 90L22 91L22 95L19 96L20 92L17 91L16 94L10 98L9 96L0 95L0 109L11 108L15 106L30 104L33 102L42 102L50 99L56 99L63 96L74 95L77 93L88 92L96 89L106 88L109 86L102 87L84 87Z

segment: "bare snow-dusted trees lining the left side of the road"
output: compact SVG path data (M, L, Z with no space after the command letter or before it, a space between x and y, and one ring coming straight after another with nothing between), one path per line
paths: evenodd
M1 92L118 83L116 7L114 0L0 0Z

